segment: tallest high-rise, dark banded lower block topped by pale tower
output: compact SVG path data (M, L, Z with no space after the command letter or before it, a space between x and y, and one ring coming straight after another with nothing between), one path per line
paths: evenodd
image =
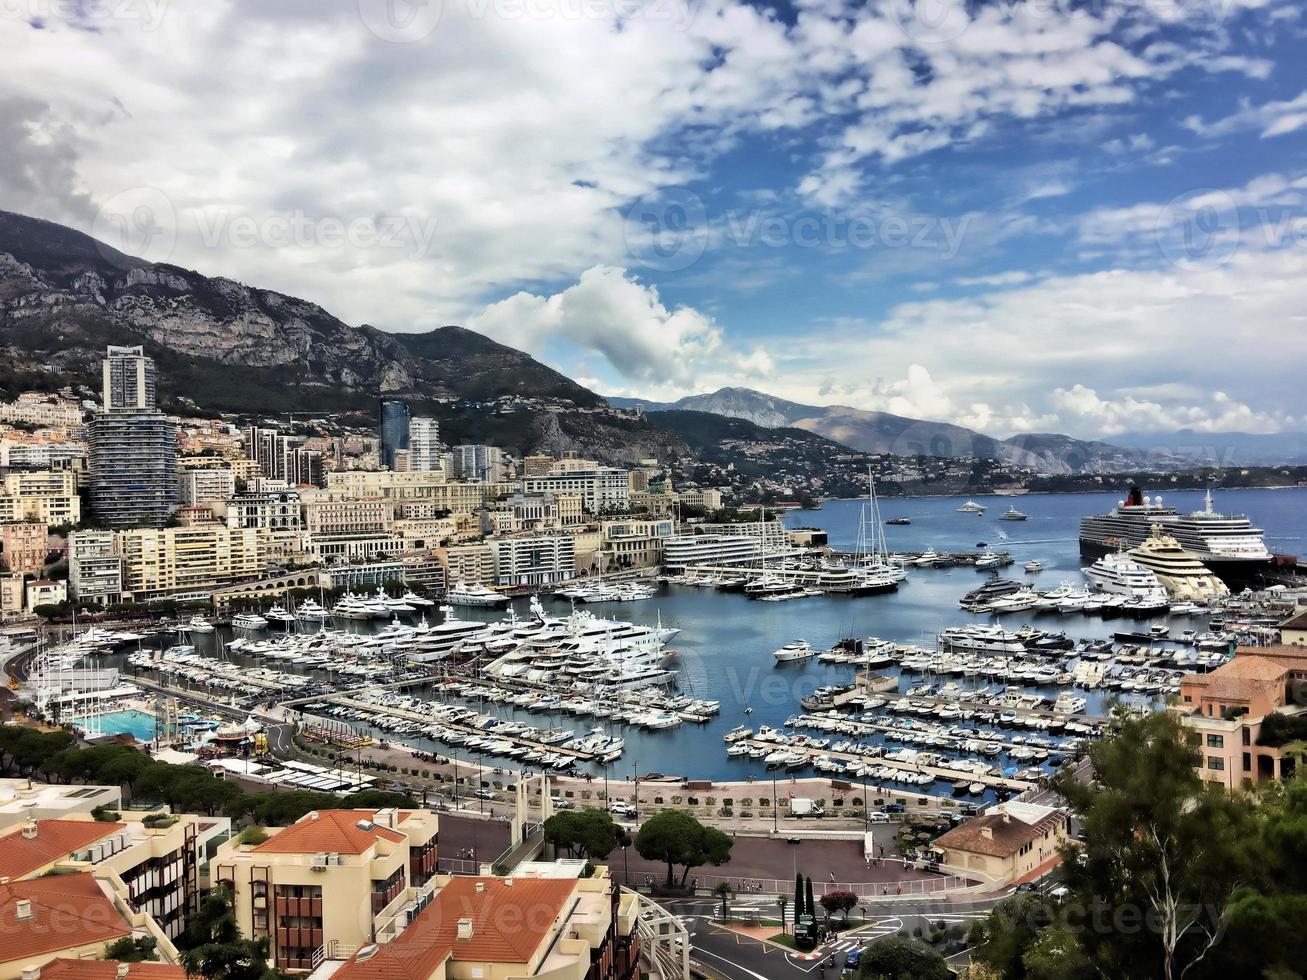
M154 406L154 362L110 348L90 422L90 504L111 528L159 528L176 507L176 427Z

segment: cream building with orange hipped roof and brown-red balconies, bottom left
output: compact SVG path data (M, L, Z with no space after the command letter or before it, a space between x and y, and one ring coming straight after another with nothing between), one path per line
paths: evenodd
M437 830L426 810L314 810L263 843L222 844L212 874L277 967L311 970L320 951L353 953L406 924L430 896Z

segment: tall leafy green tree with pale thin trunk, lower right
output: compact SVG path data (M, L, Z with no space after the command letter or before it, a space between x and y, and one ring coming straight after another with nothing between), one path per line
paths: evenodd
M1069 768L1052 780L1080 818L1082 853L1064 849L1064 874L1094 924L1085 953L1107 976L1188 975L1256 868L1249 802L1199 779L1188 734L1165 712L1117 716L1089 749L1093 783Z

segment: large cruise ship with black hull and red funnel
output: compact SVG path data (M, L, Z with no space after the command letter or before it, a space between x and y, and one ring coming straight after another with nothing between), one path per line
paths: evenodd
M1171 534L1185 551L1223 581L1246 581L1270 563L1270 551L1260 528L1243 515L1218 514L1208 490L1206 506L1182 516L1161 497L1145 497L1131 487L1129 497L1108 514L1080 521L1080 553L1089 558L1138 547L1153 525Z

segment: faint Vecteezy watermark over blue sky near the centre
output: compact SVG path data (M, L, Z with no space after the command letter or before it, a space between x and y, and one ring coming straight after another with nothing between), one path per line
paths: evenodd
M626 250L635 263L659 272L693 265L708 244L735 248L921 248L953 259L971 216L958 218L884 212L778 214L731 209L710 216L686 188L640 197L626 212Z

